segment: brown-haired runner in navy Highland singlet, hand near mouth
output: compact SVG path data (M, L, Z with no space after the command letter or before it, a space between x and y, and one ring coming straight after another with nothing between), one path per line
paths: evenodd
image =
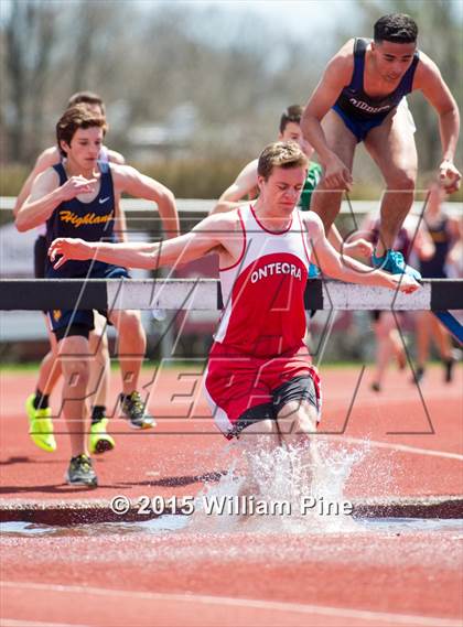
M57 145L66 158L47 169L34 181L31 194L17 215L19 230L29 230L46 221L47 241L66 235L72 239L100 241L114 239L116 198L122 193L153 201L158 205L168 237L179 233L179 216L172 192L157 181L128 165L98 161L106 120L84 105L67 109L56 125ZM94 261L76 261L67 269L50 263L49 279L128 277L123 267ZM121 410L136 429L154 424L146 412L147 401L138 391L139 376L146 352L146 335L139 312L105 312L118 331L118 352L122 374ZM49 312L51 327L57 340L64 377L63 413L71 437L72 458L66 474L69 484L97 485L88 456L86 402L88 363L91 358L88 336L94 327L93 311L53 310Z

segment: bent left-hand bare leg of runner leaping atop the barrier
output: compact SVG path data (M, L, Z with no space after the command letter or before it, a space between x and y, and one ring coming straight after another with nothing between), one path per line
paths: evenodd
M355 136L333 110L330 110L323 118L322 128L330 150L352 171L355 147L357 145ZM321 217L326 234L329 234L332 224L340 213L343 193L343 190L330 190L322 179L312 194L310 208Z

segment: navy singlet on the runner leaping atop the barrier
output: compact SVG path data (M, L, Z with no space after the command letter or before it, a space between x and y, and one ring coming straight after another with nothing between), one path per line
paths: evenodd
M419 52L416 51L410 67L396 89L381 98L373 98L364 89L365 53L370 41L364 37L355 40L354 72L351 83L343 88L333 106L357 141L364 140L370 129L383 123L388 113L397 108L400 100L410 94L413 88L414 71L420 61Z

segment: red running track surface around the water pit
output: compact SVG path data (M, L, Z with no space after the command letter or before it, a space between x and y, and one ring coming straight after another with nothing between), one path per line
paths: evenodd
M344 369L324 374L324 430L344 431L348 446L351 439L379 443L355 468L346 496L461 494L461 371L459 381L443 386L441 371L430 370L422 389L427 411L406 377L390 372L387 396L378 396L368 390L367 371L343 429L358 375ZM150 397L159 426L138 433L115 420L117 448L97 460L101 487L86 491L63 484L68 444L60 420L57 453L42 453L29 441L23 400L34 377L2 375L2 498L195 494L202 477L226 466L224 440L207 418L200 378L159 372ZM0 624L461 625L461 530L289 534L278 525L276 520L274 533L246 527L207 533L196 525L195 531L162 534L141 529L6 534Z

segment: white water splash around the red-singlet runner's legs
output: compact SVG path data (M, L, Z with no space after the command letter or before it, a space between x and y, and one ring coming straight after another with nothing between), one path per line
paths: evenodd
M368 443L347 450L317 436L310 447L256 450L246 460L240 455L217 485L205 486L197 496L189 530L308 533L357 529L343 493L368 450ZM252 489L246 491L249 477Z

